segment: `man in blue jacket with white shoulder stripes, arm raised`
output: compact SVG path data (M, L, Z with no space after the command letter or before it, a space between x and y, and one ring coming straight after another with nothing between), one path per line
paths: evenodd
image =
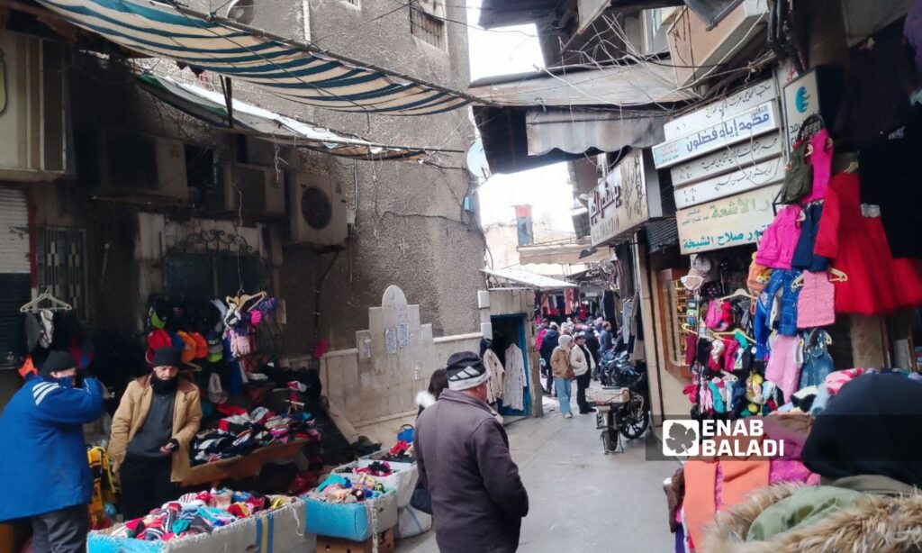
M93 480L82 425L102 415L100 382L52 351L0 416L0 522L30 518L35 553L87 549Z

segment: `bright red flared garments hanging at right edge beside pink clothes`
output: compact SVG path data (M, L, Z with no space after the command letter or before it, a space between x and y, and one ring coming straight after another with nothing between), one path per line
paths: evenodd
M922 264L893 259L881 218L861 214L859 188L857 175L833 177L813 249L847 277L835 283L835 311L881 315L922 305Z

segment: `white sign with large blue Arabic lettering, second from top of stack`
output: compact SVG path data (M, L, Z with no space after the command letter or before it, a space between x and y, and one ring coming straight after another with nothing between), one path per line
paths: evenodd
M653 159L656 168L662 169L743 140L750 140L754 136L764 135L777 128L777 108L774 106L774 100L771 100L697 133L657 144L653 147Z

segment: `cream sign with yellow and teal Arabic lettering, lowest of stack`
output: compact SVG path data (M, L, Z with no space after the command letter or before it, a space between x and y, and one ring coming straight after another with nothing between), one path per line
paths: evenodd
M780 184L723 198L676 212L681 253L707 252L751 244L774 219L772 200Z

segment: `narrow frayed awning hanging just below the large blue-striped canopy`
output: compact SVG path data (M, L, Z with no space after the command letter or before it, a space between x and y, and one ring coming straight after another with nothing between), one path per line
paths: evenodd
M147 74L137 78L142 88L174 108L209 124L230 126L224 97L218 92L178 83L167 76ZM279 144L355 159L423 159L429 153L425 148L375 144L358 136L339 134L321 126L301 123L240 100L232 102L235 129Z

